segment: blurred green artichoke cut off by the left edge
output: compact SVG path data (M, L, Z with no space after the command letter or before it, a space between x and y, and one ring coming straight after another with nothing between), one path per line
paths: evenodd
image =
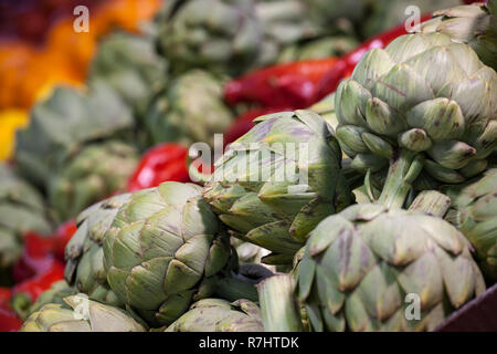
M47 235L51 225L40 192L4 164L0 164L0 285L7 285L3 272L18 259L22 233Z

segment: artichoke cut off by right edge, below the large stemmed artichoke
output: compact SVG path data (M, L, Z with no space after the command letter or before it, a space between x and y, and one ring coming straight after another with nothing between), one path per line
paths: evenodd
M448 187L444 192L452 200L446 220L472 242L487 279L497 281L497 168L469 184Z

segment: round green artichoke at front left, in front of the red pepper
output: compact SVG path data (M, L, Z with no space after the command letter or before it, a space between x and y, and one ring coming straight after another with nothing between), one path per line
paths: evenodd
M107 281L148 323L172 323L215 290L231 267L230 241L193 184L163 183L133 194L104 239Z

